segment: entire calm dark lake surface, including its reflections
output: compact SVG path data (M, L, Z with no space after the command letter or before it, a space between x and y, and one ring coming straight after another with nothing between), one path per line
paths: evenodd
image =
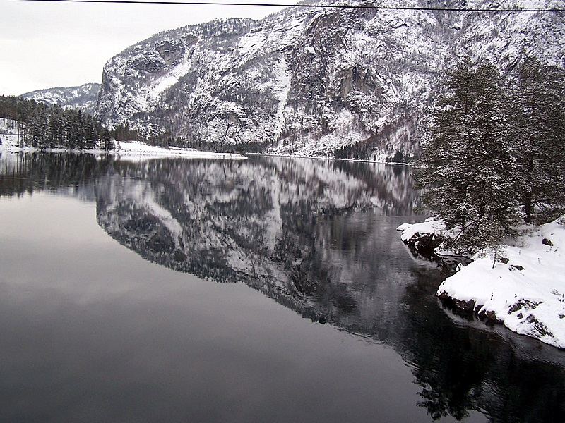
M565 353L465 321L405 167L0 158L0 421L563 422Z

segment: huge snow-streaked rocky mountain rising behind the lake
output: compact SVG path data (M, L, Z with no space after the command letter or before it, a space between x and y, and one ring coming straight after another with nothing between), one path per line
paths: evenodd
M258 21L215 20L134 44L107 61L97 113L145 137L169 130L193 147L406 159L418 153L434 85L458 56L490 59L511 73L524 54L563 66L563 51L561 13L287 8Z

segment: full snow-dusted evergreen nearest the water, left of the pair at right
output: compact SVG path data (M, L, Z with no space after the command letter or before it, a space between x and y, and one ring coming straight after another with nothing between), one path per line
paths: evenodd
M475 250L511 233L518 216L506 96L496 67L465 57L436 100L415 178L424 202L448 228L453 247Z

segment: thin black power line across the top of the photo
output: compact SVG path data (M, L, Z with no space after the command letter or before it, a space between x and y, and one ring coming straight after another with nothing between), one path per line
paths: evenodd
M175 1L175 0L20 0L49 3L113 3L113 4L177 4L185 6L265 6L265 7L302 7L302 8L337 8L337 9L374 9L385 11L447 11L447 12L479 12L479 13L563 13L565 8L466 8L466 7L409 7L409 6L374 6L371 4L278 4L278 3L252 3L252 2L227 2L214 3L213 1Z

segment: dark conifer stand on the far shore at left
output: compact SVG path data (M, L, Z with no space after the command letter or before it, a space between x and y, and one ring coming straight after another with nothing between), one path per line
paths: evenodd
M80 110L0 96L0 118L13 121L20 147L114 149L109 130Z

